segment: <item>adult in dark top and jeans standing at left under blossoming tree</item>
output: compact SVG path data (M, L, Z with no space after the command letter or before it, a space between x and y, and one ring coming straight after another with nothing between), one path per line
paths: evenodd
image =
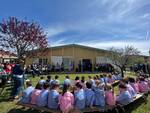
M18 95L23 86L23 79L24 79L24 69L21 66L21 61L17 60L15 66L12 69L12 79L14 81L13 90L12 90L12 98L17 99Z

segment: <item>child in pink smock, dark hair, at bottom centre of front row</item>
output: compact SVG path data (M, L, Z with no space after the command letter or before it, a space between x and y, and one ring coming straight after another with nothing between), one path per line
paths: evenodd
M69 86L64 84L63 92L59 96L59 105L63 113L69 113L73 109L74 96L68 91Z

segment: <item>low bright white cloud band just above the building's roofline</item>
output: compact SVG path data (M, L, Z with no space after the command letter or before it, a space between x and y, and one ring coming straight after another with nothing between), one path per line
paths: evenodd
M66 44L72 44L70 42L66 42L66 39L61 39L58 41L53 41L51 43L51 46L61 46L61 45L66 45ZM78 42L75 44L80 44L84 46L89 46L89 47L94 47L94 48L99 48L99 49L105 49L108 50L111 47L115 48L124 48L126 46L133 46L137 48L142 55L149 55L149 50L150 50L150 40L145 40L145 41L87 41L87 42Z

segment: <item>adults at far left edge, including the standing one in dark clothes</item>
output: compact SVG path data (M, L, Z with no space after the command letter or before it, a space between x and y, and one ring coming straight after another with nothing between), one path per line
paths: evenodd
M1 86L5 87L8 81L13 83L11 98L18 98L19 92L24 84L24 68L21 60L17 60L15 64L0 64Z

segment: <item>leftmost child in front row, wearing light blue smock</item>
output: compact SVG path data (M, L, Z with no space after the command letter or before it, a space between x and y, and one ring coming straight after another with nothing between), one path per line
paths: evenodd
M30 103L31 100L31 93L34 90L32 87L32 83L30 80L26 80L26 89L23 91L21 102L22 103Z

